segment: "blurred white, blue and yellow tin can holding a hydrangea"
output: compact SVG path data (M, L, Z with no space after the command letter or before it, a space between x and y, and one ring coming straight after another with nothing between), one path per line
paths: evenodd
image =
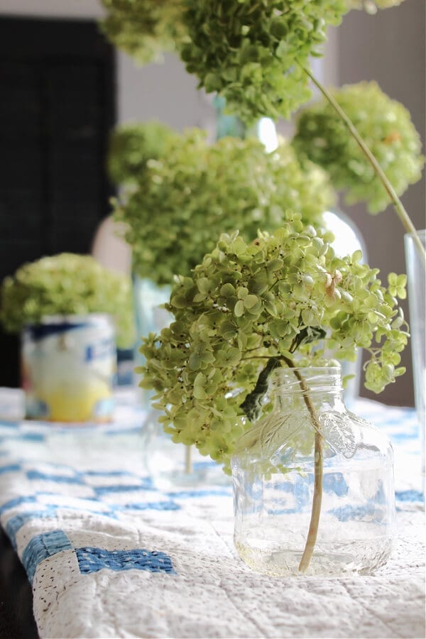
M55 315L23 329L21 386L27 419L110 421L115 373L109 315Z

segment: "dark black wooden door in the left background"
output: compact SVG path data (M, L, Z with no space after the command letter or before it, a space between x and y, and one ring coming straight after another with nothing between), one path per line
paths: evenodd
M0 280L89 252L109 212L114 75L95 22L0 18ZM18 385L18 338L1 331L0 352L0 386Z

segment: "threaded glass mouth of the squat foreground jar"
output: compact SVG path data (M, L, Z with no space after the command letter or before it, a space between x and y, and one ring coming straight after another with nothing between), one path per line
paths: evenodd
M280 391L302 392L301 383L308 391L342 389L342 368L340 366L295 366L275 368L271 376L275 388Z

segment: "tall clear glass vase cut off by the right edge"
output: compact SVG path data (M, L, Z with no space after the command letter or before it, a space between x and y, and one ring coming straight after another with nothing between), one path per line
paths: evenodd
M418 231L426 247L426 230ZM412 234L406 234L405 260L408 276L408 305L410 309L411 353L415 408L419 421L422 474L425 474L425 395L426 395L426 266Z

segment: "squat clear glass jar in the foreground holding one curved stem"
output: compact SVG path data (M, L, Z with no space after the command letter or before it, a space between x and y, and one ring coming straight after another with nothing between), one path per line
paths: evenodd
M391 554L391 443L342 392L340 368L279 368L237 443L234 543L258 572L371 574Z

